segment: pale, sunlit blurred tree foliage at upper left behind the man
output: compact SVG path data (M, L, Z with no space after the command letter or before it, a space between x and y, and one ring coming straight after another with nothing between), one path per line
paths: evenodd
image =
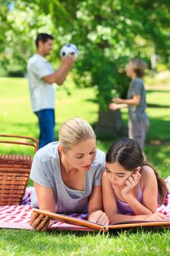
M2 1L1 67L9 75L26 73L26 65L36 50L34 39L42 31L53 32L50 15L37 15L39 7L24 1Z

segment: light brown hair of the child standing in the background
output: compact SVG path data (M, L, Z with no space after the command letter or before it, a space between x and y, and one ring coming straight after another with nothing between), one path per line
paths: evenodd
M142 78L144 76L144 70L147 68L146 62L142 59L132 59L129 63L132 65L135 74L139 78Z

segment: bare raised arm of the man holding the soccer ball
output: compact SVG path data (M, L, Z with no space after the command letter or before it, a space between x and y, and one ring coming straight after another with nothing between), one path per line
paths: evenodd
M69 73L69 70L71 69L74 59L72 56L67 56L66 58L61 59L61 67L56 70L51 75L46 75L43 77L43 80L47 83L57 83L59 86L63 84L63 81L66 79L66 76Z

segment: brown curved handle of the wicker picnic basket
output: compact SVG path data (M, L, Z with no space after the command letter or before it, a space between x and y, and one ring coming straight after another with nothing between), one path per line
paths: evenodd
M26 145L26 146L33 146L35 148L35 152L39 148L39 141L36 140L36 138L31 138L31 137L28 137L28 136L20 136L20 135L0 135L0 137L20 138L20 139L26 139L26 140L31 140L32 141L32 142L24 142L24 141L0 140L0 143L9 143L9 144L20 144L20 145Z

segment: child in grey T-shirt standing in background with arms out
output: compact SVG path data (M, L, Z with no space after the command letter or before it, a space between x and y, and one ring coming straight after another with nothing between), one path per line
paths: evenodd
M126 75L131 78L131 83L128 88L127 99L113 98L109 104L111 110L120 108L128 108L128 137L136 140L141 148L144 147L144 141L149 128L149 118L145 109L146 91L142 77L144 69L147 65L141 59L133 59L128 62Z

